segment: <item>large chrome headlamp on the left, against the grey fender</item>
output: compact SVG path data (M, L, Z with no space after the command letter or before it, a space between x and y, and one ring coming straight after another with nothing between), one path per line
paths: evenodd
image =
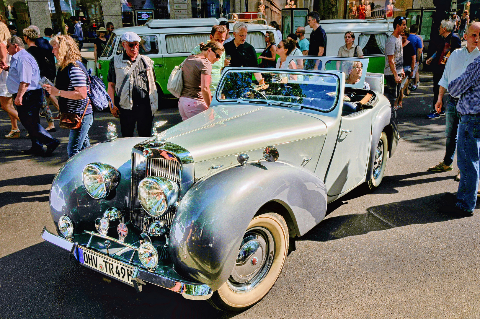
M101 199L117 188L120 182L120 172L105 163L90 163L84 167L82 179L88 195Z

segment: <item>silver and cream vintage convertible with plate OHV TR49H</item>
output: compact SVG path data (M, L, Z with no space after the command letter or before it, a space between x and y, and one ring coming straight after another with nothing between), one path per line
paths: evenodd
M156 123L147 140L109 123L108 141L57 173L58 234L42 238L139 292L152 283L224 310L260 301L295 237L327 203L377 187L398 141L383 75L369 90L348 74L368 59L302 59L303 70L227 68L208 110Z

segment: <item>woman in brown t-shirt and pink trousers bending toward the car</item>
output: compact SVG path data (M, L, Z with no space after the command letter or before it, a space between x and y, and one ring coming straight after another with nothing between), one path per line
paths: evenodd
M179 99L179 111L183 121L210 106L212 63L220 60L224 51L217 41L200 43L200 50L199 54L190 55L183 62L183 90Z

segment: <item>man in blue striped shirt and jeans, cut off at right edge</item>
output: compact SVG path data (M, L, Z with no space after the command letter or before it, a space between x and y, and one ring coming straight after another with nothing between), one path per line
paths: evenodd
M461 178L456 200L453 196L447 195L451 203L443 205L440 211L455 217L467 217L472 216L475 210L479 184L480 56L468 65L462 75L448 84L448 92L454 97L460 96L456 110L460 113L457 165Z

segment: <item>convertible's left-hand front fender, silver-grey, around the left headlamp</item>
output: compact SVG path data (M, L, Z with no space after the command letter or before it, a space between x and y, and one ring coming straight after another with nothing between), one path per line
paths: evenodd
M128 137L97 143L67 160L55 176L50 190L50 214L57 231L58 220L63 214L72 219L76 232L83 232L95 230L94 221L108 207L129 207L132 147L144 140L145 137ZM120 184L106 198L94 199L85 191L82 172L85 165L92 162L107 163L120 172Z

